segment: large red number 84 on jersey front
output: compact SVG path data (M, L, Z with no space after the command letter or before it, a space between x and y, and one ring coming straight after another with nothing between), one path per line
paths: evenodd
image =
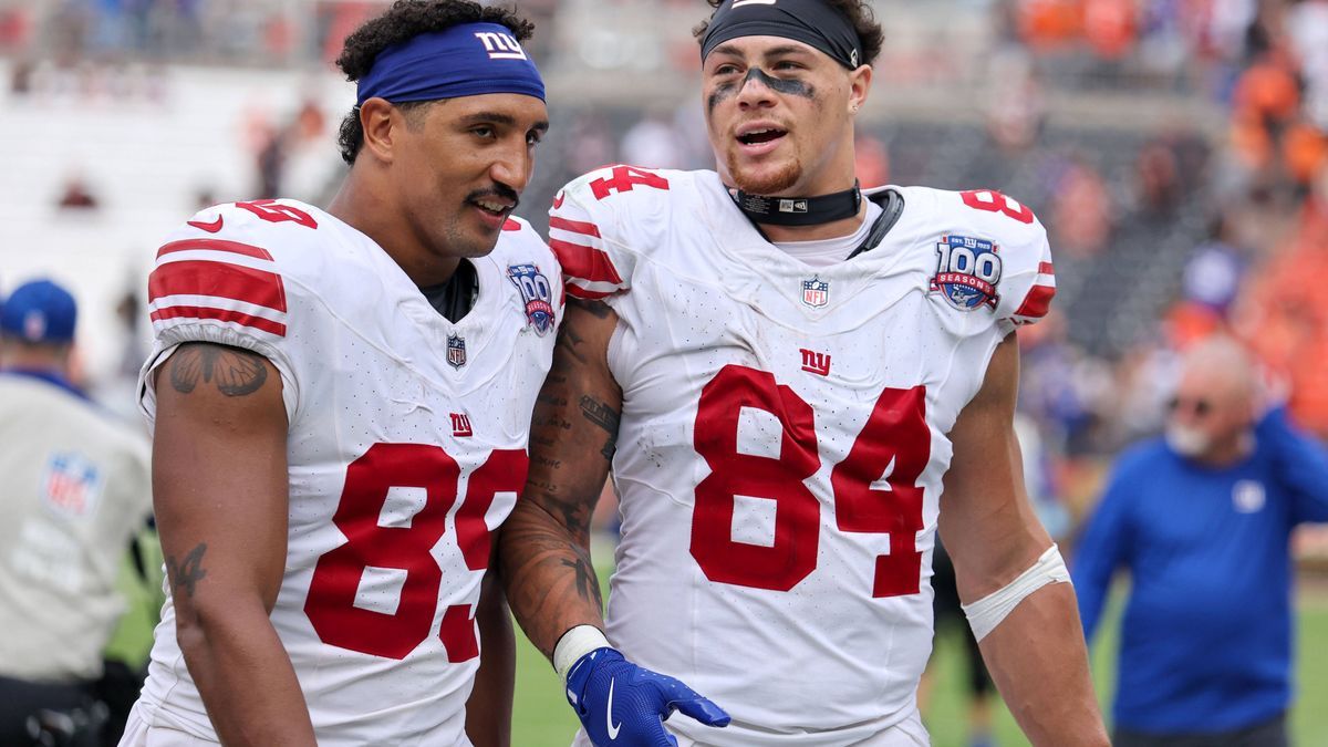
M778 419L780 455L738 451L742 408ZM872 597L916 594L922 585L918 532L931 459L924 387L880 392L849 456L834 467L830 485L841 532L890 534L890 553L876 557ZM821 468L815 411L774 375L744 366L720 370L697 405L693 447L710 473L696 486L692 557L705 577L721 584L788 591L817 568L821 504L806 480ZM737 496L773 500L774 540L733 540Z

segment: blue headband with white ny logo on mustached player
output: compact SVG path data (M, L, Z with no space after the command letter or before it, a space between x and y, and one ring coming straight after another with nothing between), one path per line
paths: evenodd
M384 49L360 78L356 105L374 96L400 104L483 93L544 100L539 70L505 25L462 24Z

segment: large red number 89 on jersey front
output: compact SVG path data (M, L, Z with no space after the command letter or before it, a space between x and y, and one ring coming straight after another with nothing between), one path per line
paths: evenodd
M521 489L527 464L525 451L494 451L470 475L456 517L457 545L470 570L489 566L493 540L485 513L498 493ZM347 467L345 486L332 516L347 541L319 557L304 601L304 614L320 641L404 659L429 638L442 585L433 548L446 533L459 476L457 460L432 444L374 444ZM382 526L378 521L392 488L422 488L425 501L405 525ZM369 566L405 572L390 614L356 606ZM479 654L471 621L470 605L444 610L438 637L448 661L463 662Z

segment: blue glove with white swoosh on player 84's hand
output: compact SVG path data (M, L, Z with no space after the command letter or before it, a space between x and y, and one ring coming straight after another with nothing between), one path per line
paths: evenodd
M664 730L675 710L728 726L724 708L672 677L641 669L614 649L595 649L567 670L567 702L596 747L677 747Z

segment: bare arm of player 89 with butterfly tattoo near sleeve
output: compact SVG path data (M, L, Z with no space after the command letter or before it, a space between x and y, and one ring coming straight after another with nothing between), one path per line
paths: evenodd
M264 358L181 346L155 372L153 500L185 663L226 744L313 744L268 614L286 568L286 408Z

